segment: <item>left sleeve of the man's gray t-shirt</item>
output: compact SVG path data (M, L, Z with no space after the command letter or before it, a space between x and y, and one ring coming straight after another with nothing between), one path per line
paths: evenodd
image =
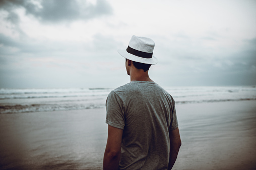
M106 123L110 126L123 129L125 125L124 104L120 97L113 91L106 100Z

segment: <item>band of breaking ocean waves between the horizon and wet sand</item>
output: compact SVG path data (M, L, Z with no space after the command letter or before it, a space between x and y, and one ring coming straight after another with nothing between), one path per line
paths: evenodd
M165 87L176 104L256 100L256 86ZM0 89L0 114L104 108L112 88Z

